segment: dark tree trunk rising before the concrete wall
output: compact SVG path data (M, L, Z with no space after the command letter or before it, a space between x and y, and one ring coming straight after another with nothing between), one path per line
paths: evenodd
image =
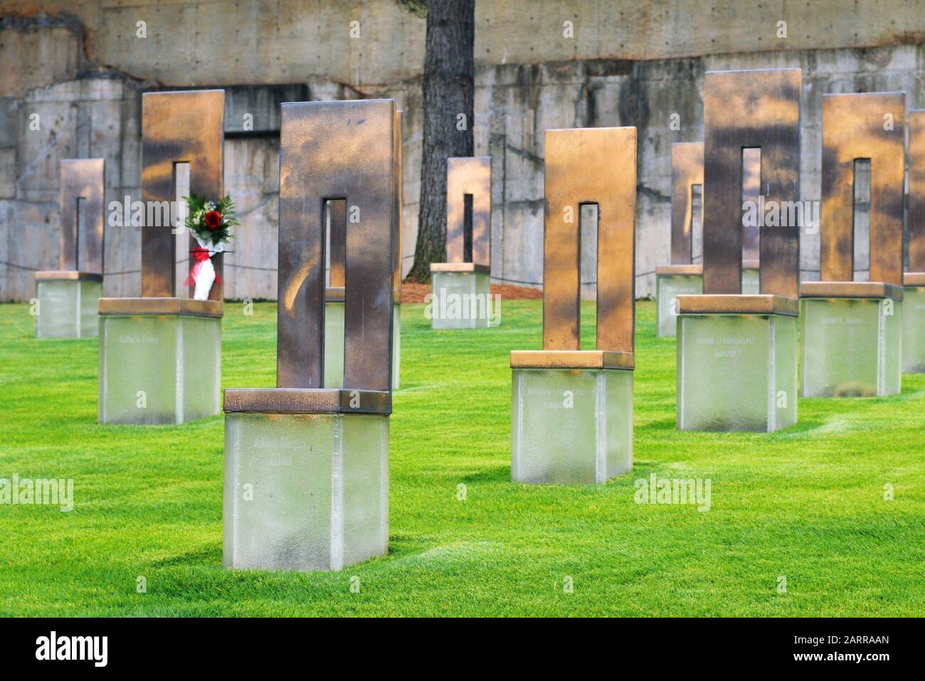
M424 150L417 243L408 278L430 280L447 258L447 158L471 156L475 0L429 0L424 56ZM462 114L462 118L460 115Z

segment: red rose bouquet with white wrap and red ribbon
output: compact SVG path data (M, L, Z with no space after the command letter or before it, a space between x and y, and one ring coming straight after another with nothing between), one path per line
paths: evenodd
M192 249L195 263L183 285L195 287L192 297L197 301L204 301L209 298L213 282L217 281L219 285L222 283L216 276L212 257L225 251L225 244L232 238L231 228L240 222L235 217L234 202L229 194L217 204L193 192L184 196L183 200L186 201L187 208L183 224L191 231L198 244Z

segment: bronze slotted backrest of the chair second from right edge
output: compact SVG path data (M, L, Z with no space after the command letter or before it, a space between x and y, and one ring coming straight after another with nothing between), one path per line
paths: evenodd
M870 158L870 281L903 283L906 93L822 97L820 279L854 279L855 160Z

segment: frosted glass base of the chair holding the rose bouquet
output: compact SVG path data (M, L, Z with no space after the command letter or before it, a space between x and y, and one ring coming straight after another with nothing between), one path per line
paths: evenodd
M99 422L179 424L218 414L221 324L219 316L101 310Z

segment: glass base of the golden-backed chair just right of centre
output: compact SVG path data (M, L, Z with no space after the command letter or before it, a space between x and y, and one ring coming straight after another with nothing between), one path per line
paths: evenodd
M591 485L633 467L633 371L512 369L511 479Z

